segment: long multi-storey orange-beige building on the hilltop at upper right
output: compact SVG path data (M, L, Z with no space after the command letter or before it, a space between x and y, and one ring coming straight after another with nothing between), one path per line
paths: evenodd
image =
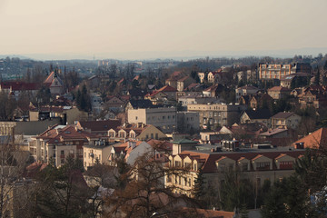
M296 64L259 64L260 80L281 80L282 76L296 73L311 73L311 65L304 63Z

